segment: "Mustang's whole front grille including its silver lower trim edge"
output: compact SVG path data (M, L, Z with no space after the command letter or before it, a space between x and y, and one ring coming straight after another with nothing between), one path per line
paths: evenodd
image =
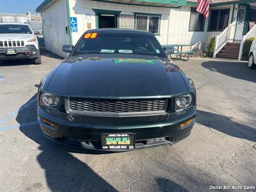
M67 113L89 116L163 115L167 98L157 99L86 99L70 97L65 101Z

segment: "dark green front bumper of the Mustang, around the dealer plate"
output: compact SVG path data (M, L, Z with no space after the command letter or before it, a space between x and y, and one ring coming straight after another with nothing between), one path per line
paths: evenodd
M38 122L45 136L68 145L93 150L102 150L100 135L105 133L135 133L135 149L172 145L190 134L195 124L195 115L196 109L190 108L182 115L122 118L70 116L67 113L38 106ZM54 126L45 124L42 118ZM180 124L191 118L193 121L180 129Z

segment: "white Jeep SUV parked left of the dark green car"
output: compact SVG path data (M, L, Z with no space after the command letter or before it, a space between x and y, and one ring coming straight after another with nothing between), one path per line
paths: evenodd
M0 23L0 60L31 59L41 64L38 34L28 24Z

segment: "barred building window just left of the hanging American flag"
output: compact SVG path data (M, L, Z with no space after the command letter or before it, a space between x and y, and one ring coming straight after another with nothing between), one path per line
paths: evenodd
M204 15L196 12L196 8L191 8L189 31L204 31Z

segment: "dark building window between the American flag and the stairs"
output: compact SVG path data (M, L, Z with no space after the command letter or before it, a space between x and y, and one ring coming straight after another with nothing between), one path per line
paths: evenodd
M223 31L228 26L230 9L211 10L209 31Z

